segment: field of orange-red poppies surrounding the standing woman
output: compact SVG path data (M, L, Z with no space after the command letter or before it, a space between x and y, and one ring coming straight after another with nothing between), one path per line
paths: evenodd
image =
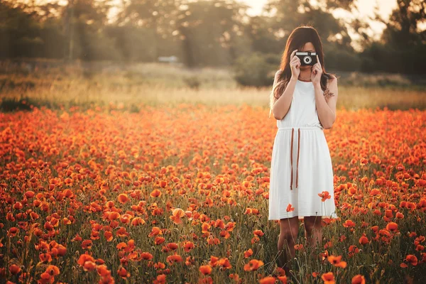
M1 113L1 283L424 283L426 111L338 110L339 218L314 249L300 222L293 280L268 221L276 131L247 105Z

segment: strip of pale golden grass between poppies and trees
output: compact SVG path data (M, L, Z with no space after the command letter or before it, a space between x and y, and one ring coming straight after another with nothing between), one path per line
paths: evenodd
M239 87L229 69L187 70L158 63L85 64L39 67L25 72L18 72L18 67L9 67L6 72L3 67L0 110L28 109L28 104L53 109L114 105L130 111L143 105L181 103L268 107L271 87ZM337 74L342 76L337 109L426 109L422 80L410 84L402 75Z

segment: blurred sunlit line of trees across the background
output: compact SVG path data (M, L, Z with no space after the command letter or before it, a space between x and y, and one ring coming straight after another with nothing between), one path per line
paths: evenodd
M0 2L0 57L63 60L157 61L175 55L187 67L226 66L256 54L275 64L288 35L311 24L324 44L327 69L425 74L426 2L396 0L389 18L376 11L386 28L378 40L368 23L341 21L335 9L352 11L355 0L270 0L262 16L234 0L69 0L61 6ZM114 18L109 13L116 11ZM349 29L359 35L355 50ZM278 60L278 62L277 62Z

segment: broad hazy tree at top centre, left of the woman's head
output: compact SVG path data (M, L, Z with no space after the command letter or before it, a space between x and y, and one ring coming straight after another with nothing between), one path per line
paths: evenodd
M250 44L244 37L247 8L224 0L185 4L176 23L185 64L230 65L244 53L244 45Z

